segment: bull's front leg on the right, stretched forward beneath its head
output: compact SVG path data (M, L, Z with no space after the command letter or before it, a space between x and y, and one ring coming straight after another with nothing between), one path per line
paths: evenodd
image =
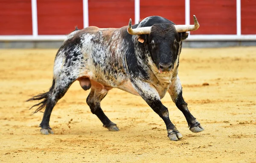
M172 84L168 89L169 94L172 97L172 101L176 104L177 108L184 114L186 121L189 125L189 130L192 132L202 132L204 128L195 119L195 117L189 112L188 104L184 101L182 96L182 87L178 76L172 78Z

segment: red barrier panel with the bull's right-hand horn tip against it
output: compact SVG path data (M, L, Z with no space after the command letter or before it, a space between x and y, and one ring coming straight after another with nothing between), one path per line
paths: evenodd
M236 34L236 0L190 0L190 14L200 24L191 34Z

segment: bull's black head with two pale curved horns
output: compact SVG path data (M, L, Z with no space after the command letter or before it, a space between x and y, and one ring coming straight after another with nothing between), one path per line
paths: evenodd
M152 60L159 72L169 72L173 69L177 55L180 52L181 41L188 37L186 31L195 31L199 23L194 15L194 25L174 25L173 23L155 23L152 26L131 28L128 33L139 35L138 41L144 43L151 54Z

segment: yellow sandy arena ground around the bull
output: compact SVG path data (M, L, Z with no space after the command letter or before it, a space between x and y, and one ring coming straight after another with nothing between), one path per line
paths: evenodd
M0 50L0 162L256 163L256 47L183 49L179 76L189 110L204 132L189 131L169 94L163 104L183 139L141 97L112 89L102 109L120 131L90 112L89 91L73 83L52 112L55 134L42 135L31 95L48 91L57 49Z

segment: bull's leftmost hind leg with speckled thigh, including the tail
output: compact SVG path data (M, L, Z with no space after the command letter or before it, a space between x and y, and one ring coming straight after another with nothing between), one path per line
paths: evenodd
M84 55L81 53L80 45L72 42L72 39L66 40L61 48L58 50L54 61L53 67L53 83L49 92L38 94L29 100L42 100L41 103L36 104L39 106L35 112L45 108L44 117L40 124L41 133L53 133L49 126L49 120L52 109L58 100L64 96L69 89L70 85L77 80L81 70L85 69Z

